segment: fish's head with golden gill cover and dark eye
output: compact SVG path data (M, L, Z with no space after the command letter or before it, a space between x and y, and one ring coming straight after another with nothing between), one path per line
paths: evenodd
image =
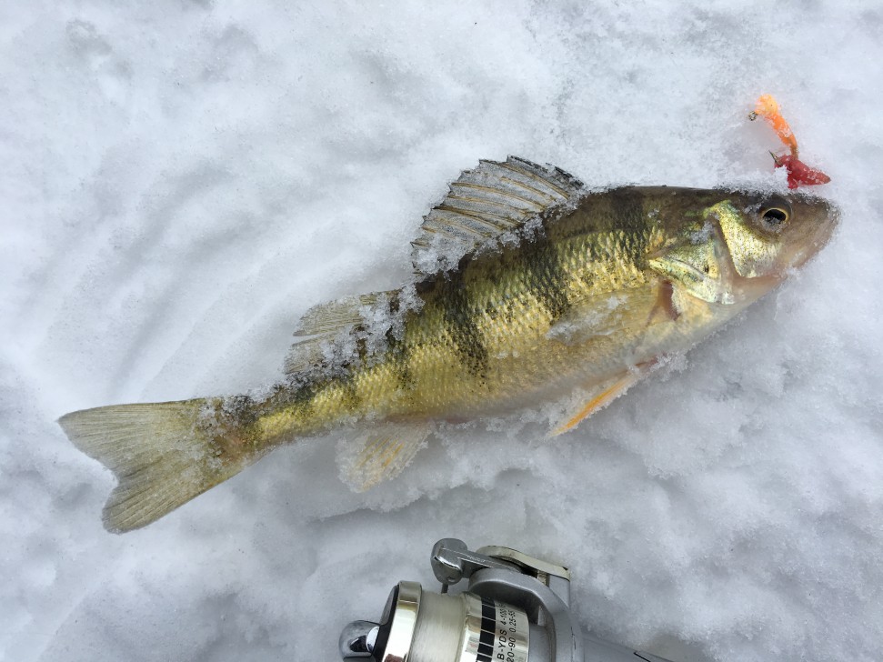
M677 241L650 266L691 296L744 306L818 254L838 225L836 206L815 196L708 192L682 214Z

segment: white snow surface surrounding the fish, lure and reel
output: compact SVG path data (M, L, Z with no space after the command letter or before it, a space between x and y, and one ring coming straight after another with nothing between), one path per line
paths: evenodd
M835 0L0 6L0 657L335 660L454 536L571 567L582 627L662 656L878 660L881 34ZM331 436L102 528L114 478L58 416L278 380L306 308L406 281L479 158L784 187L762 93L841 226L685 360L364 495Z

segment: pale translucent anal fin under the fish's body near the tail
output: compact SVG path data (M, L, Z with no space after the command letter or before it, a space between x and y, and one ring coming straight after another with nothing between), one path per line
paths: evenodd
M385 423L341 445L341 479L356 492L394 478L414 458L432 431L428 423Z

